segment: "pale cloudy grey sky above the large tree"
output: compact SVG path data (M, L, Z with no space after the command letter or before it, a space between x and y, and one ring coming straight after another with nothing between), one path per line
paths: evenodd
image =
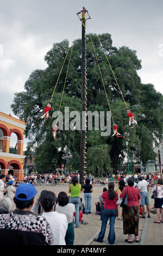
M141 82L163 94L162 0L1 0L0 112L15 117L14 93L24 91L34 70L47 67L44 56L55 42L82 37L77 13L83 6L91 17L86 33L109 33L113 46L135 50Z

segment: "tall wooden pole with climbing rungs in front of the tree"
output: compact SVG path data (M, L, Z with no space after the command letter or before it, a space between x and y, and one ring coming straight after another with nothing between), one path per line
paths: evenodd
M86 39L85 39L85 12L82 13L82 129L80 141L80 184L84 185L84 173L86 172Z

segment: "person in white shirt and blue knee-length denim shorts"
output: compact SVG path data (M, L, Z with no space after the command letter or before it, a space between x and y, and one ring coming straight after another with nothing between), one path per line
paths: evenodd
M142 208L142 216L140 216L140 218L146 218L145 216L145 205L147 208L147 212L148 212L148 218L150 218L150 209L149 209L149 194L148 194L148 183L145 179L143 179L142 175L138 176L138 184L137 184L137 188L140 191L140 195L141 195L141 208Z

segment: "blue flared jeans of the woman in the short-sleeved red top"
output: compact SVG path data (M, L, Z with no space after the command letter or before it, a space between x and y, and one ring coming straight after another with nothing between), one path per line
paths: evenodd
M116 238L115 230L114 230L116 215L117 215L117 209L104 209L101 231L99 232L99 235L97 237L97 240L99 242L103 242L106 225L110 217L110 229L109 229L109 235L108 235L108 242L110 243L110 245L114 244L115 238Z

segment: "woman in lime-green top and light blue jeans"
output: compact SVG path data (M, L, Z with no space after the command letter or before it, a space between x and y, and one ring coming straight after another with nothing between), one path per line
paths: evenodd
M73 176L68 192L70 193L70 203L74 204L76 208L76 227L79 227L80 191L81 184L79 184L78 177Z

